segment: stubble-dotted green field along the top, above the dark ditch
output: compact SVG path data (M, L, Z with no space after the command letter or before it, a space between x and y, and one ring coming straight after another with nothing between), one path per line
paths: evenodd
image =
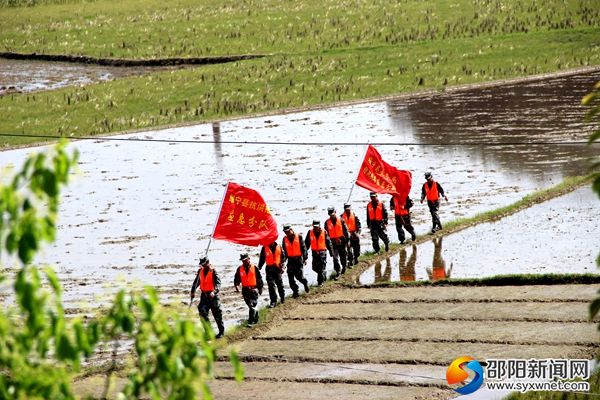
M595 0L55 3L0 8L0 48L119 58L320 53L600 26Z

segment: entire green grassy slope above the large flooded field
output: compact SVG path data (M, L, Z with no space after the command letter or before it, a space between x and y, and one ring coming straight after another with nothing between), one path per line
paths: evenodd
M0 8L0 51L270 54L5 96L0 134L98 135L600 65L600 11L592 0L567 3L100 0Z

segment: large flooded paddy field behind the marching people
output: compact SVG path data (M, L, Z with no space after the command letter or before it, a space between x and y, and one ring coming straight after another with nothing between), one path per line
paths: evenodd
M581 123L579 102L597 80L599 72L421 100L228 121L215 130L203 124L124 136L220 143L78 142L79 174L61 205L57 241L36 261L57 266L68 306L81 301L97 305L102 300L94 296L134 282L155 285L175 301L187 300L227 181L259 190L280 226L289 222L306 233L313 219L326 218L327 206L340 210L347 200L365 151L364 145L348 144L356 142L378 143L385 160L412 170L414 198L420 196L423 172L433 171L450 198L442 205L442 221L472 216L586 172L585 160L598 154L597 147L560 142L585 140L591 132ZM514 141L530 144L508 144ZM556 144L539 144L548 141ZM299 142L314 144L295 145ZM38 150L3 152L0 164L20 165ZM387 202L389 197L382 198ZM351 203L363 222L367 201L366 190L353 190ZM427 207L417 203L413 220L417 234L425 234ZM393 225L390 235L395 240ZM521 241L534 239L532 234ZM370 249L368 243L365 229L364 249ZM209 257L224 287L231 287L241 251L257 261L259 249L212 243ZM548 251L548 261L553 257ZM3 262L5 267L12 264ZM460 271L458 264L456 268ZM520 270L515 262L504 272ZM310 267L305 273L316 281ZM242 313L245 306L229 302L233 298L228 297L227 307ZM265 304L266 291L263 298Z

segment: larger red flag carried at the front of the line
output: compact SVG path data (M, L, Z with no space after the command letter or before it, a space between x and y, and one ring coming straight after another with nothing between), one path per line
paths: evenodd
M229 182L213 237L258 246L269 245L278 236L277 222L262 196L256 190Z

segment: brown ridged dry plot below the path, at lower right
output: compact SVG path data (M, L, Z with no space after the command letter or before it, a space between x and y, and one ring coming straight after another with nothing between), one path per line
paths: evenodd
M452 360L591 358L588 285L338 289L306 299L236 344L246 381L225 360L215 398L453 398Z

